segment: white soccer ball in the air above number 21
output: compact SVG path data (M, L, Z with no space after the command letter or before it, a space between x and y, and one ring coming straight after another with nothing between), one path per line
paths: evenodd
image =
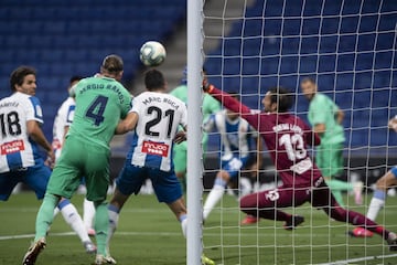
M139 59L146 66L159 66L165 56L165 49L160 42L148 41L141 46Z

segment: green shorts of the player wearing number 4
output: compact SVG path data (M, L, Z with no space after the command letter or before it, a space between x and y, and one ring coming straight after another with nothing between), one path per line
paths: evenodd
M46 192L71 199L84 177L87 199L106 200L110 150L75 136L68 136L65 144L51 174Z

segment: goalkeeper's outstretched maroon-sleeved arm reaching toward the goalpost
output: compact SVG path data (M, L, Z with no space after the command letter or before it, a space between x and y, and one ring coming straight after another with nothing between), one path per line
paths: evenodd
M216 88L214 85L204 83L203 89L212 95L215 99L221 102L226 108L232 112L240 114L242 118L246 119L254 128L258 129L259 126L259 114L251 112L249 107L232 97L228 93Z

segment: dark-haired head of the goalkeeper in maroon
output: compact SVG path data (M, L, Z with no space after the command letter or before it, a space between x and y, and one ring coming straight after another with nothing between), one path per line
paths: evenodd
M266 93L262 104L267 113L287 113L292 107L293 95L287 88L273 87Z

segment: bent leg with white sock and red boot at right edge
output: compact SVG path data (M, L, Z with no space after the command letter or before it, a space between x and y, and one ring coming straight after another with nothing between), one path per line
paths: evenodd
M384 208L387 189L397 186L397 167L394 167L390 171L384 174L378 181L376 181L376 189L374 191L374 195L371 200L368 212L366 214L367 219L375 221L379 211ZM372 236L372 233L366 231L363 227L356 227L350 232L351 235L357 237L366 237Z

